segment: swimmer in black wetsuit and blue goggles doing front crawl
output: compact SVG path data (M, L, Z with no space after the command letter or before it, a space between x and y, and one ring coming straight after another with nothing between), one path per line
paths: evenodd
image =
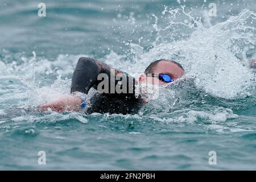
M179 63L162 59L148 65L136 81L134 77L119 69L113 69L98 60L81 57L72 76L71 95L40 105L38 110L51 109L57 112L84 110L86 114L135 114L147 102L143 97L135 96L135 88L138 85L166 85L182 77L184 73ZM104 79L99 80L99 78ZM102 86L103 80L109 85ZM94 94L88 100L87 94L90 89L94 89ZM120 93L118 89L129 92Z

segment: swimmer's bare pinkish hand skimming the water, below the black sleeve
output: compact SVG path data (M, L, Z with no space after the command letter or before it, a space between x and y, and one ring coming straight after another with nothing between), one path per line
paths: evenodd
M36 110L48 111L49 109L51 109L52 111L56 111L56 112L63 112L63 111L78 112L81 108L81 102L82 102L81 98L74 97L74 96L66 96L59 100L40 105L37 107Z

